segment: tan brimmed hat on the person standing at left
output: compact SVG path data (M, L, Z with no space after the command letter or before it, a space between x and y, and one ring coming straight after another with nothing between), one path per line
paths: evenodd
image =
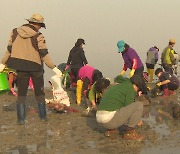
M26 20L31 23L38 23L41 25L41 27L46 28L46 25L44 23L44 18L40 14L33 14L30 19L26 19Z

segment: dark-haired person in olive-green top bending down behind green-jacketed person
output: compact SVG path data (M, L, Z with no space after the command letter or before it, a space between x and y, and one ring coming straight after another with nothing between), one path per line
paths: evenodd
M90 88L86 94L86 102L88 108L82 112L82 116L89 116L90 112L96 112L97 106L100 103L102 93L110 85L110 80L106 78L98 79ZM96 88L95 88L96 87ZM101 91L96 91L96 89L101 89Z

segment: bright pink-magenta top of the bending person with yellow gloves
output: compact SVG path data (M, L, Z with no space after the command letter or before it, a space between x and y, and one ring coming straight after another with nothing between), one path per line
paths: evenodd
M81 80L84 80L85 77L88 77L88 79L92 83L92 75L93 75L94 70L95 70L95 68L93 68L89 65L85 65L85 66L80 68L79 73L78 73L78 77Z

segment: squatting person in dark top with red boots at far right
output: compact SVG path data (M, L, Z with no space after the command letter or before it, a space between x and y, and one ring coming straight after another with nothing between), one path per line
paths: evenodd
M159 81L156 85L160 90L163 91L163 98L176 94L175 90L179 88L179 80L174 75L163 72L162 68L157 68L155 75L159 78Z

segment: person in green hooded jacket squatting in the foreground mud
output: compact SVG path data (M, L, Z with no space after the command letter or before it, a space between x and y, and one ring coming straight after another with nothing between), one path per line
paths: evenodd
M141 123L143 104L135 101L136 95L142 95L144 84L139 75L125 78L121 75L115 78L114 85L110 85L102 95L97 109L96 120L98 124L107 129L105 136L114 136L119 133L118 128L126 126L124 139L144 140L144 136L136 132L134 127ZM101 92L100 87L95 87Z

